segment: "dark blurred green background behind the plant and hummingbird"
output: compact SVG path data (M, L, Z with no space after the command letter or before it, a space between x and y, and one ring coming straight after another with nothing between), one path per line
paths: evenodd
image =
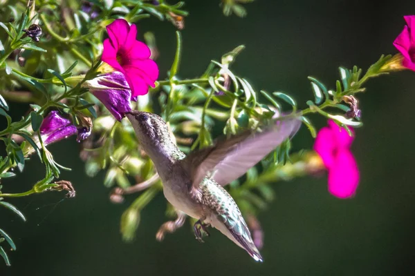
M338 66L367 68L381 54L396 53L392 42L403 15L414 1L265 1L246 5L248 17L224 17L219 0L187 1L190 16L183 30L182 77L197 77L211 59L244 44L233 71L257 90L280 90L302 107L313 99L308 75L333 88ZM138 23L140 36L156 35L160 77L174 58L174 26L157 19ZM122 205L109 202L103 173L84 174L75 138L50 146L55 159L73 168L62 179L77 190L59 204L63 193L10 200L28 218L23 223L0 210L1 227L17 244L12 266L0 262L0 275L404 275L414 262L414 103L415 72L399 72L369 81L359 95L363 128L353 152L361 181L356 197L329 195L326 177L306 177L275 184L277 199L259 216L265 231L265 262L255 263L218 231L200 244L189 224L164 242L155 235L165 221L166 201L159 195L141 213L136 241L122 242ZM25 106L12 104L21 115ZM324 119L313 117L315 125ZM302 128L297 149L313 139ZM22 175L3 181L3 190L19 192L41 179L36 158Z

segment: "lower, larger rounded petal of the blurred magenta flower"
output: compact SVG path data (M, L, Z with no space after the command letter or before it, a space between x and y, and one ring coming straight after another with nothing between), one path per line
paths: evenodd
M329 169L329 192L335 197L348 198L356 193L359 170L350 150L339 150Z

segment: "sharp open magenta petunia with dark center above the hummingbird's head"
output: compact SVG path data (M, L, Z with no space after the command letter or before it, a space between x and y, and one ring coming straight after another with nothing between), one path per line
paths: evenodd
M129 26L124 19L116 19L107 26L107 31L109 39L104 40L102 61L124 74L132 99L147 94L158 78L158 67L149 58L147 45L136 40L136 25Z

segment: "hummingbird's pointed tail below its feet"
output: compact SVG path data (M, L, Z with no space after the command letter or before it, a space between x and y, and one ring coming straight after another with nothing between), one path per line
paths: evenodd
M220 218L211 217L211 221L207 222L221 231L221 233L231 239L232 242L245 249L255 261L263 262L261 253L259 253L257 246L252 242L252 236L250 235L248 226L246 226L243 218L232 221L228 219L228 221L223 223Z

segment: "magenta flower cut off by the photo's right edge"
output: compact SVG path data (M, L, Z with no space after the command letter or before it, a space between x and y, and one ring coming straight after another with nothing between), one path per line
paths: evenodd
M415 71L415 15L403 17L407 26L396 37L394 46L403 55L402 65Z

